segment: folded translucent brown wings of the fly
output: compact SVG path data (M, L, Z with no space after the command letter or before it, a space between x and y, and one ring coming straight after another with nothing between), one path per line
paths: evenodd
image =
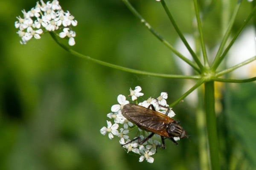
M162 113L135 104L124 105L122 115L141 129L161 136L169 136L165 125L175 121Z

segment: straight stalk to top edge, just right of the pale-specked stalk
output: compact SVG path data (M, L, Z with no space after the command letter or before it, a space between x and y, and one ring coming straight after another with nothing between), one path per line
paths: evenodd
M198 67L200 68L200 70L203 70L203 65L201 64L198 56L195 54L195 52L192 50L192 48L190 47L189 43L187 42L186 38L184 37L184 35L182 34L182 32L180 31L180 28L177 26L174 18L172 17L171 12L169 11L169 8L166 6L166 3L164 0L160 1L164 10L166 11L167 16L169 17L169 20L172 22L173 27L175 28L177 34L179 35L180 39L182 40L182 42L184 43L184 45L186 46L186 48L188 49L189 53L192 55L193 59L195 60L195 62L197 63Z

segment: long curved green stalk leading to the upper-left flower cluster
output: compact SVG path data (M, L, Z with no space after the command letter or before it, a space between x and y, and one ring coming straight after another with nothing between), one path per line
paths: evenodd
M57 42L58 45L60 45L62 48L64 48L64 50L70 52L70 54L72 54L74 56L77 56L77 57L80 57L80 58L83 58L83 59L88 59L92 62L95 62L95 63L100 64L100 65L105 65L105 66L110 67L110 68L116 68L116 69L119 69L119 70L122 70L122 71L127 71L127 72L130 72L130 73L142 74L142 75L148 75L148 76L155 76L155 77L165 77L165 78L175 78L175 79L200 79L201 78L200 75L184 76L184 75L175 75L175 74L159 74L159 73L152 73L152 72L148 72L148 71L140 71L140 70L135 70L135 69L131 69L131 68L126 68L126 67L122 67L122 66L119 66L119 65L114 65L114 64L111 64L109 62L104 62L104 61L101 61L101 60L94 59L94 58L91 58L89 56L83 55L81 53L78 53L78 52L70 49L69 47L65 46L61 42L59 42L57 37L55 36L55 33L53 33L53 32L49 32L49 33L52 36L52 38L55 40L55 42Z

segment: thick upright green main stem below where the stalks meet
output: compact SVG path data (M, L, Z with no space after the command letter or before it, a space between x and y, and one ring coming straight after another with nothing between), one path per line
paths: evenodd
M215 115L214 82L205 82L205 111L211 170L220 170L218 157L218 135Z

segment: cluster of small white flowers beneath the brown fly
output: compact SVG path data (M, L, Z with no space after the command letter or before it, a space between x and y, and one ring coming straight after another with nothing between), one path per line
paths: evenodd
M135 101L137 104L137 97L143 96L144 94L140 92L141 87L137 86L135 87L135 90L132 90L130 88L130 95L128 97L131 97L132 101ZM166 108L163 108L161 106L168 107L169 105L166 104L166 99L168 97L168 94L165 92L162 92L159 97L156 99L149 97L147 100L140 102L138 105L141 105L145 108L148 108L149 105L153 105L155 110L165 114ZM114 136L118 136L120 138L119 143L122 144L125 149L127 149L127 153L130 151L136 154L140 155L139 161L142 162L144 159L148 161L149 163L154 162L154 158L151 156L154 155L157 151L157 146L161 146L161 138L159 135L154 135L154 140L151 138L148 141L144 142L143 144L139 144L138 140L129 139L130 137L128 134L130 133L129 129L134 129L134 127L137 127L133 123L129 122L121 112L121 109L124 105L128 104L129 101L126 100L126 97L122 94L119 94L117 97L117 102L119 104L113 105L111 107L111 113L107 114L107 117L109 119L112 119L113 122L107 120L107 127L102 127L100 129L100 133L102 135L106 135L108 133L109 139L113 139ZM171 110L168 114L168 116L173 117L175 116L175 113ZM145 132L144 130L140 130L137 127L138 133L140 133L140 140L144 139L148 136L148 132ZM135 139L135 138L134 138ZM179 140L179 138L175 138L175 140Z

